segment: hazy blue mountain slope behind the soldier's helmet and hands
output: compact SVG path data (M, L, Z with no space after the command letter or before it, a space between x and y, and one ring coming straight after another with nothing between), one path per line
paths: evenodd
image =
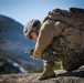
M0 50L17 59L32 63L36 68L42 66L42 61L35 61L28 53L34 46L35 41L24 38L23 25L18 21L0 14ZM0 54L1 55L1 54Z

